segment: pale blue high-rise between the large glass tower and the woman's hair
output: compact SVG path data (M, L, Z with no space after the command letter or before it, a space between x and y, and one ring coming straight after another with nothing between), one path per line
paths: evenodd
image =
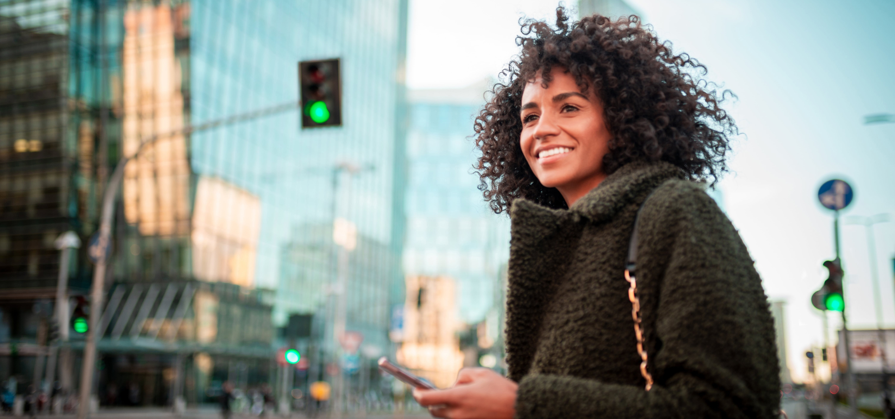
M490 83L408 93L405 273L456 281L457 318L469 324L502 311L494 296L509 253L509 219L490 210L474 173L473 117Z

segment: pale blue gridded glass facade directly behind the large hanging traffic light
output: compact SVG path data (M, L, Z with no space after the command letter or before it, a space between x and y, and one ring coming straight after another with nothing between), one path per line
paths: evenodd
M399 274L390 266L402 239L396 235L401 219L394 208L401 192L395 183L403 176L396 171L401 152L396 138L402 135L396 130L396 77L404 54L399 8L397 1L191 3L193 123L295 100L298 62L341 61L341 127L301 130L299 114L292 112L191 139L198 176L228 182L259 199L254 281L280 291L274 304L279 325L288 313L314 311L325 303L321 286L299 284L305 278L320 284L332 273L312 267L292 272L292 262L282 258L301 258L294 255L297 249L314 243L331 246L331 239L330 244L320 240L331 236L336 217L357 225L362 245L353 256L384 264L352 275L369 275L364 283L379 281L373 288L387 294L373 300L387 301L381 298L388 297ZM388 306L376 310L349 314L349 321L388 319Z

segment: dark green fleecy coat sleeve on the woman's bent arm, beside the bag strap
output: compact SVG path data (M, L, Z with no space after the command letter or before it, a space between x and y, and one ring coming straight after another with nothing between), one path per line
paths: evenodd
M519 382L516 417L777 417L773 321L737 230L684 180L662 185L643 211L638 283L652 390L530 374Z

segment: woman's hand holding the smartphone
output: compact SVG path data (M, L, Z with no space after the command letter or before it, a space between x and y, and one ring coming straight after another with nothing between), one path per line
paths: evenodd
M447 390L413 390L432 416L447 419L513 419L519 385L488 368L464 368Z

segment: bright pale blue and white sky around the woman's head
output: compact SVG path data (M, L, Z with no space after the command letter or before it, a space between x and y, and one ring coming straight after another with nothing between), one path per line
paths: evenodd
M786 302L788 364L805 379L805 351L823 342L810 297L834 256L832 214L817 201L825 180L847 180L841 256L851 329L895 327L895 3L881 0L630 0L660 38L708 68L738 98L725 105L742 135L732 143L722 205L746 242L771 300ZM567 2L575 5L575 2ZM497 77L517 54L522 16L552 15L555 1L411 0L410 88L460 88ZM874 226L879 287L865 227L849 217L891 214ZM840 321L831 315L831 330ZM831 339L835 340L831 332Z

